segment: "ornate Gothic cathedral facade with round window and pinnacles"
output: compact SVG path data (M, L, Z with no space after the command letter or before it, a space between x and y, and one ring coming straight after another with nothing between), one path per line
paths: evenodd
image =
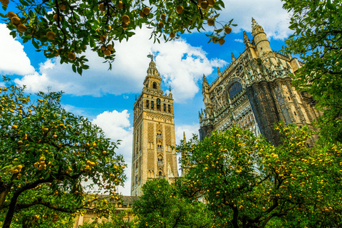
M252 19L252 42L244 32L245 50L209 85L203 76L204 110L199 112L199 138L233 124L262 134L274 145L274 123L310 125L318 118L314 100L291 86L289 73L303 63L271 50L264 29Z

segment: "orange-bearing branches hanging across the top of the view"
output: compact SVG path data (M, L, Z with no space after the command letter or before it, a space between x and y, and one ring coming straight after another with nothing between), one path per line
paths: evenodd
M5 11L8 4L14 4L0 2ZM12 36L19 33L24 43L32 41L47 58L60 56L61 63L72 63L73 71L81 74L88 68L83 55L87 46L111 63L115 43L130 38L135 28L142 26L151 28L151 38L160 43L162 35L167 41L209 24L217 27L207 36L223 44L232 31L232 20L227 24L217 21L217 11L223 7L222 0L21 0L15 12L1 16Z

